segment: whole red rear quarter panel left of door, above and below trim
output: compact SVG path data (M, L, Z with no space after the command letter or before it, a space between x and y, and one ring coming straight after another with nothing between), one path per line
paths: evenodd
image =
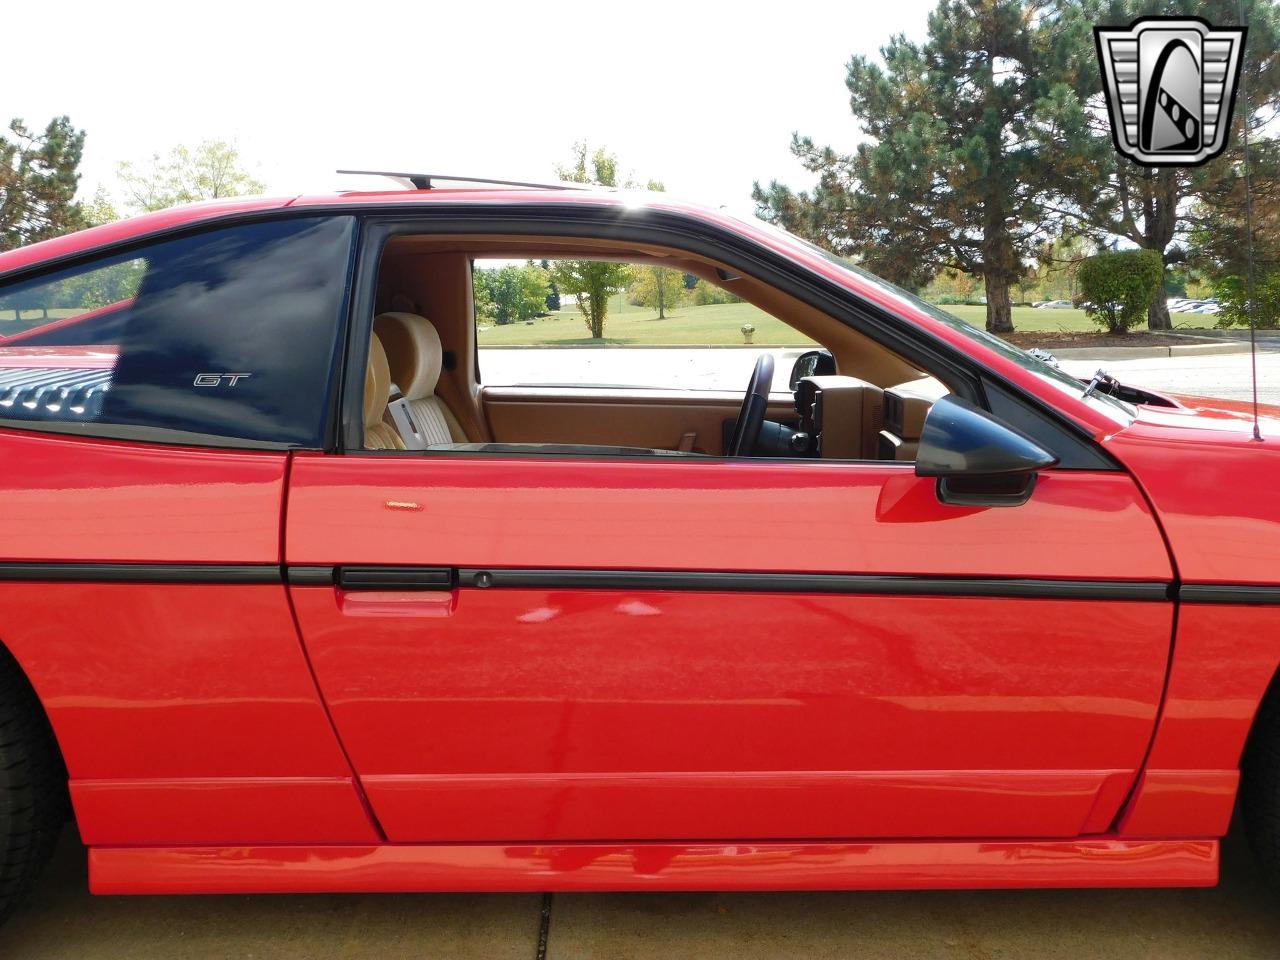
M3 561L280 562L287 454L0 430L0 462ZM49 713L93 842L242 838L253 797L289 794L279 778L325 785L284 808L292 835L260 812L260 840L376 837L282 584L0 582L0 643Z

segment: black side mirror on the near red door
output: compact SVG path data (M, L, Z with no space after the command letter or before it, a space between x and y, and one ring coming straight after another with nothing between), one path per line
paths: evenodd
M1055 463L1057 457L1021 430L947 396L924 417L915 475L938 477L943 503L1012 507L1030 498L1037 471Z

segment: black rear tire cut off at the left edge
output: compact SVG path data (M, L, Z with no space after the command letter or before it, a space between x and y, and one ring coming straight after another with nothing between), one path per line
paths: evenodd
M0 646L0 923L45 868L68 814L67 768L49 719Z

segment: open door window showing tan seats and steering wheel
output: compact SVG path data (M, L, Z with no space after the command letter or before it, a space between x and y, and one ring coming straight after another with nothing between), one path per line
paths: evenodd
M394 237L374 312L366 451L910 462L948 393L769 284L639 244Z

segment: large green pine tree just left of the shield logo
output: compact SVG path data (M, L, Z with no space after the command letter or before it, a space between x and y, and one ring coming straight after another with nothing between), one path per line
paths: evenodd
M1088 29L1055 4L941 0L923 44L896 36L883 65L849 63L868 142L845 156L795 136L792 152L818 187L756 184L762 215L906 287L945 268L982 276L987 329L1012 330L1010 285L1060 219L1046 206L1037 108L1083 92L1085 42Z

